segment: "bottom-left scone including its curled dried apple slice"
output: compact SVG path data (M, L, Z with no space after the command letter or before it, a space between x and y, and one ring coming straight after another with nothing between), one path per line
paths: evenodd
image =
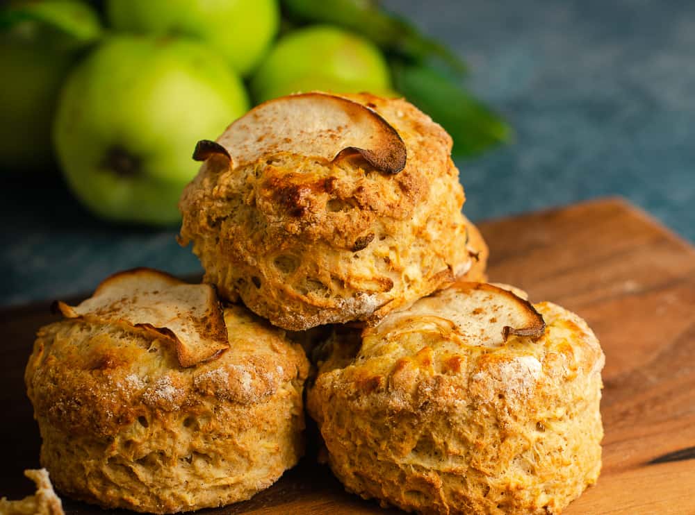
M56 489L173 513L245 500L303 453L300 346L209 285L139 269L41 328L26 367Z

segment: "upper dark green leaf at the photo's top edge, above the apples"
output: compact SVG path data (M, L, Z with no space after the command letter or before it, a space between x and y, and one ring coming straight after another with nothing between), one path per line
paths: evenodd
M376 1L283 0L282 5L293 19L341 26L409 60L438 58L457 74L466 71L466 65L455 53L420 33L407 20L385 12Z

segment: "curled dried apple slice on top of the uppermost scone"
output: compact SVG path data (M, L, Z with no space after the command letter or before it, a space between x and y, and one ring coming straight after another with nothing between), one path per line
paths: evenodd
M262 103L231 124L217 143L199 142L195 158L225 155L236 168L282 151L329 161L359 153L389 174L401 171L407 158L400 135L377 112L319 92Z

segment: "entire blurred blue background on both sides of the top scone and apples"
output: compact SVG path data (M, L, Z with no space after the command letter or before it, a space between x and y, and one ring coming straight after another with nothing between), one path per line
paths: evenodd
M457 162L473 220L620 194L695 240L695 2L385 2L471 65L514 144ZM200 270L174 239L93 219L60 178L6 177L0 303L89 292L119 269Z

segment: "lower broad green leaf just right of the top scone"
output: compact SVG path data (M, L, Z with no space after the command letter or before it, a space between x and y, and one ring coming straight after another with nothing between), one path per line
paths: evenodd
M395 89L452 136L454 155L477 155L512 139L502 118L434 67L394 61L391 72Z

